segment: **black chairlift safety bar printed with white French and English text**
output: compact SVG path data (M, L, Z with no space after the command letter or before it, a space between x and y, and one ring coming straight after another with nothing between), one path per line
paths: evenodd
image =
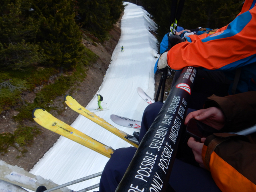
M116 192L165 192L197 73L185 67L144 135Z

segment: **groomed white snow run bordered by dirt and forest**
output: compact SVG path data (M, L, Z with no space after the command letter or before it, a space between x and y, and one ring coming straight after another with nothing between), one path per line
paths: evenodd
M156 38L149 32L149 30L156 30L156 24L141 6L129 2L124 4L128 6L125 7L121 21L122 34L98 90L104 97L103 102L108 103L102 103L102 107L108 107L110 110L99 111L96 114L132 135L135 129L115 124L111 121L110 115L116 114L141 121L143 111L148 104L138 95L137 87L141 87L150 97L154 97L154 64L156 62L154 57L159 55L156 51ZM124 46L123 53L121 53L121 46ZM85 108L96 107L95 96ZM82 115L79 115L71 126L114 149L131 146ZM102 172L108 160L109 158L61 136L30 173L51 179L61 185ZM99 182L100 177L68 188L78 191Z

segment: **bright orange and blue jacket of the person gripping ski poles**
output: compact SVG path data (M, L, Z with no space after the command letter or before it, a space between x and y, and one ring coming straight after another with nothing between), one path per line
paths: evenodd
M173 46L167 55L168 65L174 70L192 66L223 71L230 80L242 67L236 93L256 91L255 3L246 0L240 14L214 34L190 35Z

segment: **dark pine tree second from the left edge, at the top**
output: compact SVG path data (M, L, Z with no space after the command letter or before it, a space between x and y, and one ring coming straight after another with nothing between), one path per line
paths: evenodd
M82 33L75 22L72 0L34 0L39 21L36 41L44 52L44 65L74 68L84 55Z

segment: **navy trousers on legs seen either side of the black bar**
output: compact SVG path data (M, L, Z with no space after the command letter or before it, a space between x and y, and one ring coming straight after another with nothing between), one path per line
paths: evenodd
M144 110L139 142L153 123L162 106L163 103L155 102L148 105ZM191 150L189 152L189 148L185 147L187 146L186 138L186 136L181 138L181 145L179 145L177 154L179 159L175 159L169 184L176 192L221 192L213 181L210 172L197 166L198 164L195 161L191 162L191 159L194 160L194 158ZM182 151L182 153L179 153L179 151ZM135 152L136 148L129 147L117 149L112 154L100 179L100 192L114 192L116 190Z

